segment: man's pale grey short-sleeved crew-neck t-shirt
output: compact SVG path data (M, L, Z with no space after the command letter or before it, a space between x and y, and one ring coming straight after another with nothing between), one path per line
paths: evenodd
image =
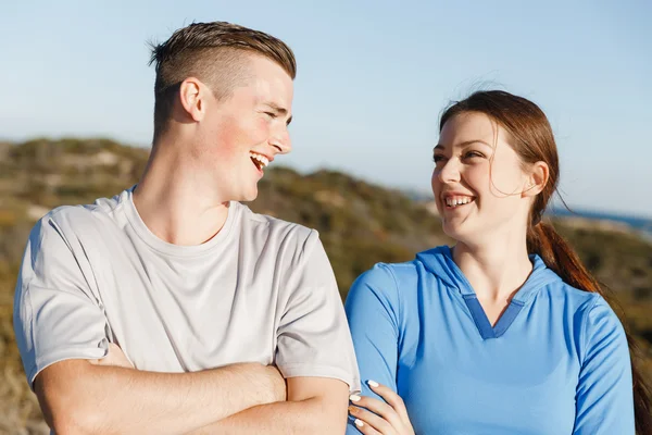
M154 236L133 188L61 207L32 231L14 301L30 385L46 366L98 359L117 343L139 370L191 372L275 363L360 390L333 269L314 229L230 202L199 246Z

